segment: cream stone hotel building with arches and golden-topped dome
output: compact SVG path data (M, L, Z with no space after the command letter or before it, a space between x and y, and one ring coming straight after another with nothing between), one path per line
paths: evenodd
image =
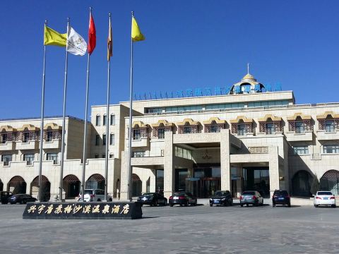
M88 123L85 186L105 186L105 137L109 135L108 191L126 198L129 128L132 128L132 194L190 191L207 198L217 190L286 189L309 196L316 188L339 195L339 103L295 104L292 91L264 92L250 74L228 95L150 99L93 106ZM44 126L43 186L59 193L61 119ZM80 191L83 124L66 121L64 198ZM109 124L109 133L106 133ZM0 190L37 195L38 119L0 121ZM46 198L47 199L47 198Z

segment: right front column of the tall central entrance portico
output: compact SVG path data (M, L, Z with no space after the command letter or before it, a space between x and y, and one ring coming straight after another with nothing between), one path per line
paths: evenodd
M230 172L230 130L220 130L220 171L221 189L231 191Z

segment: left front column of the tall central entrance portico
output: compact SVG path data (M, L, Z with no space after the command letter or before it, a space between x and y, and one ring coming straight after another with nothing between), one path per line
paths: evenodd
M174 191L175 167L173 164L174 147L172 131L165 132L165 158L164 158L164 195L168 199Z

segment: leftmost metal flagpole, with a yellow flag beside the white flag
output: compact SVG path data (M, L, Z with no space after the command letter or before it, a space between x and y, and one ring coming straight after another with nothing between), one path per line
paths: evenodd
M47 20L44 20L44 29L47 27ZM37 198L42 202L41 198L41 183L42 183L42 147L44 141L44 83L45 83L45 67L46 67L46 45L44 45L44 67L42 71L42 97L41 97L41 122L40 122L40 159L39 159L39 192Z

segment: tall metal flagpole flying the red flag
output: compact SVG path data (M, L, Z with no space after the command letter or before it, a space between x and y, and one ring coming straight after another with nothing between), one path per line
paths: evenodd
M92 7L90 7L90 16L92 16ZM87 79L86 79L86 102L85 102L85 127L83 130L83 177L81 179L81 200L85 192L85 169L86 169L86 143L87 143L87 115L88 115L88 87L90 85L90 53L87 57Z

